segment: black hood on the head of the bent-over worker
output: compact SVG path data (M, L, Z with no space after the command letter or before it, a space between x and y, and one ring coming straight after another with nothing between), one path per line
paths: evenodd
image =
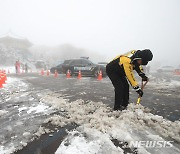
M153 54L149 49L137 50L135 53L135 59L142 59L142 65L147 65L152 60Z

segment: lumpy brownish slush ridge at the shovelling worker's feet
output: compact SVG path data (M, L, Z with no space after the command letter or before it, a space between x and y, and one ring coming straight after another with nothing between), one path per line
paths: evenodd
M76 122L79 125L96 128L102 132L110 131L117 124L128 124L137 129L150 126L162 136L171 137L180 142L180 121L171 122L163 119L162 116L153 115L142 105L129 104L128 109L123 112L112 112L111 108L101 102L85 103L83 100L77 100L68 103L62 97L56 97L55 100L54 96L52 98L51 96L47 96L44 100L54 105L55 108L58 107L58 109L66 112L65 116L54 115L46 120L46 123L51 121L54 125L64 126L68 123Z

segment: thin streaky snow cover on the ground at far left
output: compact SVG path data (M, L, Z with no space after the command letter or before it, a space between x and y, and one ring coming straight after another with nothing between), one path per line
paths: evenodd
M0 154L26 146L52 109L39 102L37 91L19 79L8 77L0 89Z

